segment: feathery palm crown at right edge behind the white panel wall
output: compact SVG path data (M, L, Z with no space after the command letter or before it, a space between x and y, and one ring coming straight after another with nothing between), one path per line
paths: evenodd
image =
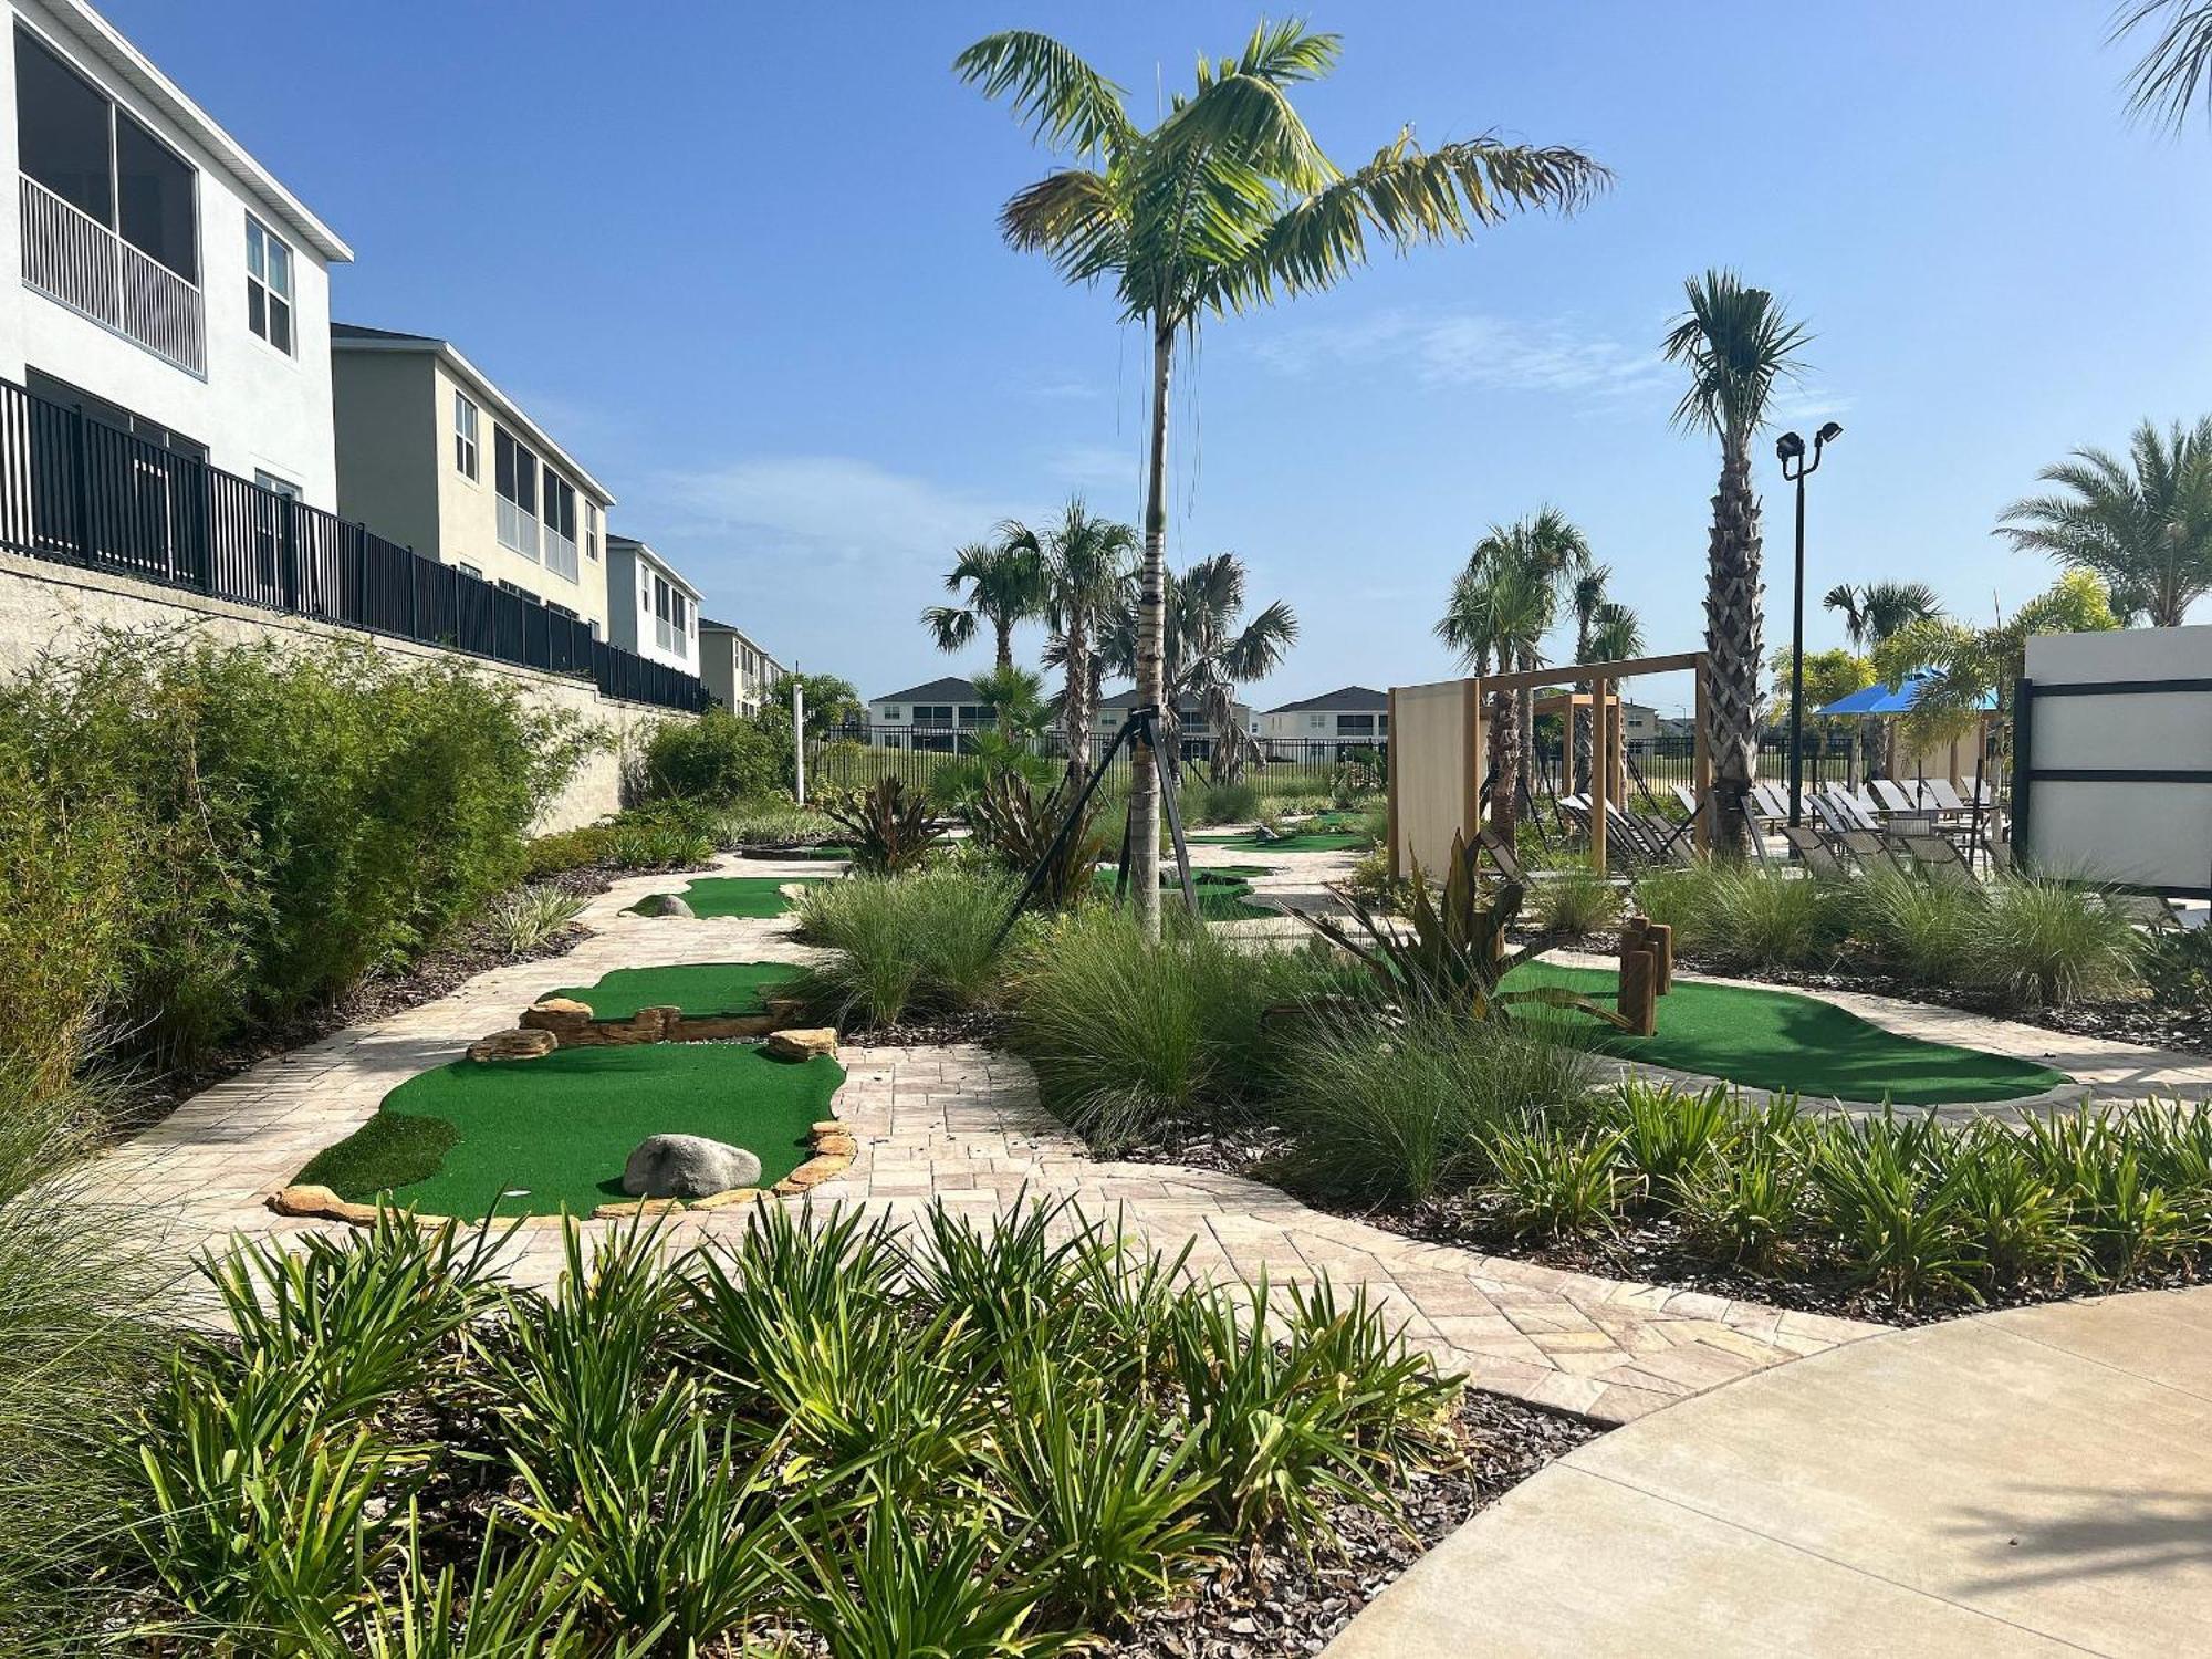
M2143 615L2152 628L2179 628L2212 593L2212 416L2163 434L2146 420L2126 460L2075 449L2037 478L2064 493L2004 509L1997 535L2015 549L2101 577L2112 608Z

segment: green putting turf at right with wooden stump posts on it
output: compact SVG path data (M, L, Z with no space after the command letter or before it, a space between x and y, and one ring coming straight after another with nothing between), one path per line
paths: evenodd
M1610 1002L1619 975L1531 962L1506 978L1509 991L1535 984L1564 984L1593 1002ZM2026 1060L1900 1037L1816 998L1681 978L1659 998L1657 1035L1601 1031L1604 1046L1626 1060L1816 1099L1887 1097L1898 1106L1933 1106L2022 1099L2073 1082Z

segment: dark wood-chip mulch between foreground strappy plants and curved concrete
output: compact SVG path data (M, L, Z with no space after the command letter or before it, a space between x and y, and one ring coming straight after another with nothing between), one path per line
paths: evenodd
M1250 1575L1217 1573L1192 1597L1152 1608L1099 1652L1128 1659L1321 1652L1383 1586L1469 1515L1601 1433L1586 1418L1473 1389L1460 1400L1453 1427L1464 1462L1416 1475L1400 1489L1405 1531L1345 1504L1334 1517L1343 1537L1338 1555L1307 1562L1296 1551L1274 1548Z

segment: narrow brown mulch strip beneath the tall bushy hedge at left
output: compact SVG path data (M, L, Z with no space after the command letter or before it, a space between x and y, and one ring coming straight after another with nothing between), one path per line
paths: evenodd
M608 867L562 869L557 874L535 878L531 887L555 887L564 894L573 894L575 898L591 898L593 894L604 894L615 880L633 874L637 872ZM582 938L584 929L568 925L538 949L522 951L518 956L493 936L489 922L469 922L445 945L418 956L405 973L369 975L332 1002L316 1009L303 1009L283 1024L265 1026L250 1037L232 1042L195 1066L184 1066L150 1079L144 1088L133 1091L131 1113L113 1128L122 1135L135 1135L148 1124L157 1124L168 1117L204 1088L210 1088L226 1077L237 1077L241 1071L259 1066L263 1060L290 1053L292 1048L305 1048L310 1042L321 1042L345 1026L383 1020L394 1013L405 1013L407 1009L418 1009L425 1002L436 1002L438 998L458 991L478 973L489 973L495 967L509 967L513 962L542 962L555 956L566 956Z

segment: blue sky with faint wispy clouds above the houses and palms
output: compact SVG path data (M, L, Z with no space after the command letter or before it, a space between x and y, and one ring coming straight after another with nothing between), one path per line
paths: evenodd
M951 546L1071 489L1135 520L1141 349L1104 292L998 241L1037 177L949 73L1040 27L1130 88L1241 44L1250 4L279 4L106 0L347 237L341 319L445 334L737 619L865 695L938 657ZM1668 427L1681 281L1736 265L1818 334L1787 416L1809 588L1918 577L1955 611L2039 591L1989 535L2070 447L2212 411L2212 133L2124 119L2093 0L1338 4L1303 97L1338 159L1413 122L1577 144L1571 221L1385 257L1212 327L1177 398L1170 557L1234 549L1303 639L1259 688L1451 672L1429 626L1491 520L1579 520L1655 648L1701 630L1714 458ZM1809 429L1809 427L1807 427ZM1767 644L1787 498L1767 487ZM1816 613L1812 641L1834 644ZM1031 630L1033 635L1033 630ZM1035 637L1024 639L1033 650ZM980 653L978 653L980 657ZM1670 697L1659 692L1659 701Z

